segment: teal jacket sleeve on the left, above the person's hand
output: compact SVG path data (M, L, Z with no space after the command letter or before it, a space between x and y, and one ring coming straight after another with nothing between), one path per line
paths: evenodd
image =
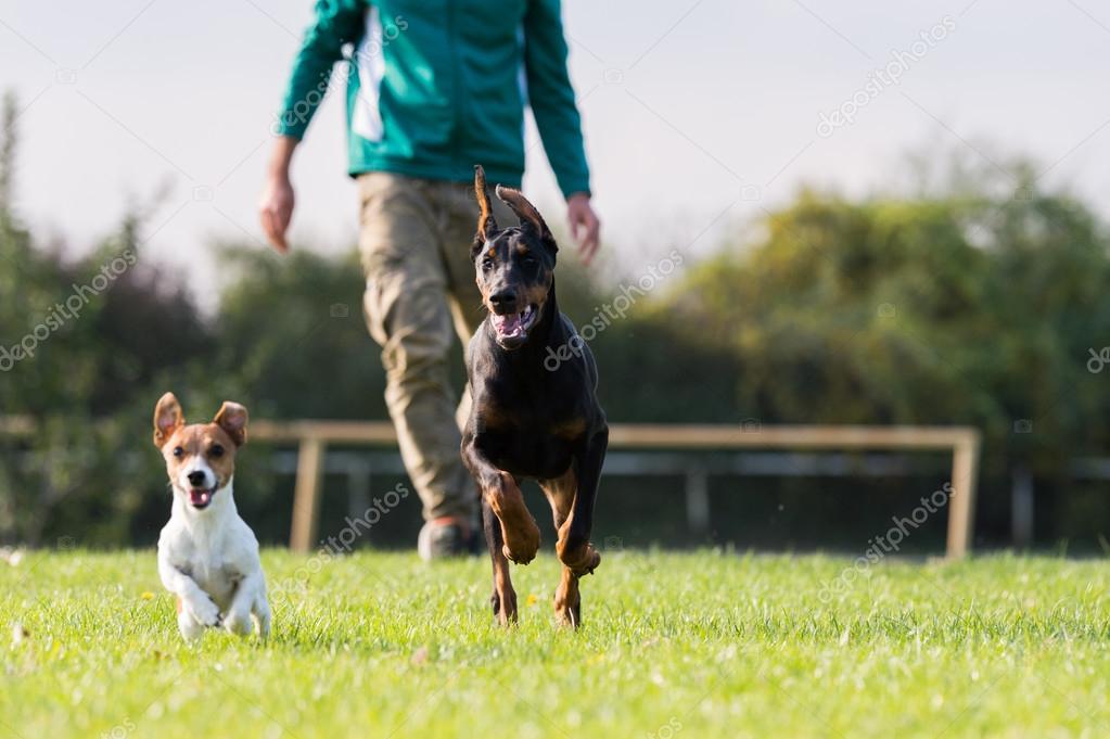
M343 45L356 43L363 30L365 0L317 0L316 19L304 32L293 62L274 133L301 139L327 92L332 65Z

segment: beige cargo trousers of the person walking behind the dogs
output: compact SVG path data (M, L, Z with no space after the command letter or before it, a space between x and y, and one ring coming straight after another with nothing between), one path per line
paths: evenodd
M470 393L456 397L447 367L485 317L470 252L477 227L473 185L372 172L359 178L366 325L382 347L385 403L424 518L477 522L477 493L462 464L460 428ZM496 204L501 223L507 210Z

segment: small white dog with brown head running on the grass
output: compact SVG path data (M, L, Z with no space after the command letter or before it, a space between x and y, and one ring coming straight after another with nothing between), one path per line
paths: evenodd
M178 628L186 639L204 627L270 634L259 543L232 497L235 452L246 443L246 408L224 403L209 424L185 425L167 393L154 407L154 445L173 488L170 523L158 539L158 573L178 596Z

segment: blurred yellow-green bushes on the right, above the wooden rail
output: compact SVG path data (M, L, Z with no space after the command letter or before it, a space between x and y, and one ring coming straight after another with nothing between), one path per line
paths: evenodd
M1110 240L1066 193L847 202L804 192L695 267L656 316L728 346L765 423L971 424L996 470L1059 476L1107 443ZM1017 193L1017 196L1013 193Z

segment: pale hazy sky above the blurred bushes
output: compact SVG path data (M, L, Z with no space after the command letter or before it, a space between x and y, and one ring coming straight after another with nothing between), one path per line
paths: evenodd
M1096 0L565 0L599 269L704 256L804 184L862 195L905 155L1021 154L1110 220L1110 7ZM141 259L206 308L220 240L264 249L271 124L309 0L0 0L0 90L19 95L17 207L73 254L151 206ZM343 97L293 166L295 249L350 249ZM562 221L527 130L525 193Z

